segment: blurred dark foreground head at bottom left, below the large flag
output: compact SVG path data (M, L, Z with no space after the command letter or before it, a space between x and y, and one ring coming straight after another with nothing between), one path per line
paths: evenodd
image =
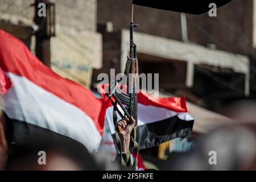
M13 142L11 121L6 114L0 119L1 170L103 170L81 143L50 133ZM6 135L5 131L9 133ZM22 141L22 140L21 140ZM20 143L19 143L20 142Z

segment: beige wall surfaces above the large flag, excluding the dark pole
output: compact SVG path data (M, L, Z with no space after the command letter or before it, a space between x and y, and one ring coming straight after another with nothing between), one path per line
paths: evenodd
M34 24L34 0L0 0L0 20ZM51 38L51 67L61 76L90 87L92 68L102 66L102 38L96 32L96 0L50 0L56 6L56 36ZM31 51L35 53L35 37ZM57 60L57 63L56 63ZM63 65L73 65L65 69ZM59 65L57 67L56 65ZM79 68L79 69L76 69Z

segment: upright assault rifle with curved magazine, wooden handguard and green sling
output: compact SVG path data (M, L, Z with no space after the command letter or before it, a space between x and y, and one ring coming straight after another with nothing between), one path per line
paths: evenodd
M125 76L127 78L127 93L123 92L119 86L118 81L112 81L109 86L109 93L105 95L111 100L112 105L114 106L113 110L113 120L115 126L115 139L117 143L118 150L121 152L121 142L118 137L117 132L122 131L123 128L117 127L117 113L121 118L131 119L131 116L135 119L135 126L133 132L131 133L131 140L134 142L134 146L132 150L135 154L138 154L138 144L136 141L136 129L138 122L138 102L137 102L137 79L138 79L138 59L137 59L137 47L134 44L133 40L133 31L138 27L138 24L130 23L130 54L127 56L127 62L125 67ZM129 78L130 77L130 78ZM114 100L113 100L114 98ZM118 109L117 104L121 108L124 114L122 114L121 110ZM126 105L126 106L123 106ZM121 164L123 167L126 166L122 159L121 155ZM133 164L133 169L137 167L137 155Z

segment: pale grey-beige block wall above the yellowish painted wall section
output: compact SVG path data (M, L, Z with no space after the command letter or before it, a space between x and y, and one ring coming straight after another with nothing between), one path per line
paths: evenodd
M69 32L75 30L96 31L96 0L51 0L56 3L56 28L57 31ZM0 19L11 22L22 20L32 24L34 7L29 7L34 0L0 0ZM5 13L3 13L6 10Z

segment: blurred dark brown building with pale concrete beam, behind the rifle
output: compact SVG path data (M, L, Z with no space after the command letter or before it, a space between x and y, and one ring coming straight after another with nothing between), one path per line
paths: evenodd
M104 67L93 81L109 68L125 67L131 2L98 1L97 9ZM218 113L234 100L255 98L254 10L253 0L233 0L217 9L217 17L135 6L139 72L160 73L161 89Z

